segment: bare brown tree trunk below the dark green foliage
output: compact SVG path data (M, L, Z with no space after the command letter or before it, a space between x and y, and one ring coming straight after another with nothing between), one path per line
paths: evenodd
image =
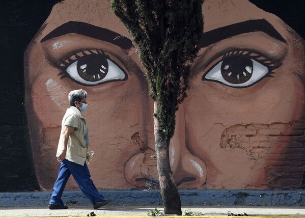
M157 103L154 102L154 133L160 192L165 214L181 215L181 201L170 165L170 141L159 129Z

